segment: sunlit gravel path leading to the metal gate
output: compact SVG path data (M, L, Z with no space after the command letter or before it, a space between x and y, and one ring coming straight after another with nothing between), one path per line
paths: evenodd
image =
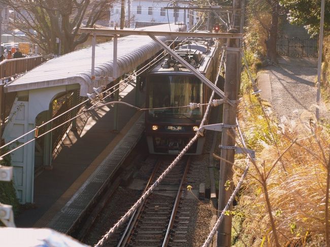
M280 57L277 66L268 68L273 109L279 119L315 119L317 58ZM329 119L323 102L320 118Z

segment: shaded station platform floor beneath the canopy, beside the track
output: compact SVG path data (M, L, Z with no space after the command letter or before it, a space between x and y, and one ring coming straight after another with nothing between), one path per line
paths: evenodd
M127 84L119 99L136 103L135 85ZM138 104L145 94L139 92ZM83 110L83 109L82 109ZM48 227L66 233L138 143L144 113L118 105L118 131L113 131L114 108L108 105L77 118L77 131L67 131L52 161L52 169L35 179L34 204L17 218L17 227Z

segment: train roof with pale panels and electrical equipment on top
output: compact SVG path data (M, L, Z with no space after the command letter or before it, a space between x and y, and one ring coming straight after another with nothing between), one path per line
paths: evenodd
M189 56L195 60L197 66L195 67L199 72L205 74L208 69L208 65L210 64L212 57L214 56L217 50L217 44L213 44L212 46L206 45L205 42L196 43L193 42L191 45L184 45L180 49L176 50L176 53L181 57ZM201 58L199 57L201 56ZM166 60L167 59L167 60ZM200 60L201 59L201 60ZM199 61L200 60L200 61ZM166 63L171 63L170 66L166 65ZM185 72L191 73L188 68L183 66L182 64L177 64L177 66L173 66L176 63L176 60L171 60L171 58L165 58L161 60L156 66L154 66L150 73L166 73L166 72Z

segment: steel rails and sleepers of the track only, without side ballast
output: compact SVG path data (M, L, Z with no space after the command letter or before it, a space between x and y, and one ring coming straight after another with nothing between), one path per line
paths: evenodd
M168 163L163 160L157 161L145 190L153 184L167 165ZM184 213L180 200L189 166L190 158L185 158L170 172L131 217L116 246L164 247L187 241L185 225L189 223L190 217L179 215Z

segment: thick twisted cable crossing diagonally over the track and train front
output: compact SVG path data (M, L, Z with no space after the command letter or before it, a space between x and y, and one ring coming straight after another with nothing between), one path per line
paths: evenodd
M222 63L220 63L221 66ZM221 67L219 66L217 80L215 81L215 85L218 82L219 74ZM209 100L209 105L205 111L204 117L201 121L200 128L205 124L207 116L210 111L210 105L212 99L214 97L214 91L212 92ZM191 145L200 137L199 133L196 133L189 141L189 143L183 148L183 150L178 154L178 156L172 161L172 163L161 173L159 178L152 184L152 186L139 198L139 200L126 212L126 214L121 217L121 219L94 245L94 247L101 247L105 243L105 241L112 236L118 228L128 220L128 218L137 210L137 208L143 203L143 201L154 191L154 189L158 186L158 184L166 177L166 175L173 169L173 167L180 161L182 156L188 151Z

